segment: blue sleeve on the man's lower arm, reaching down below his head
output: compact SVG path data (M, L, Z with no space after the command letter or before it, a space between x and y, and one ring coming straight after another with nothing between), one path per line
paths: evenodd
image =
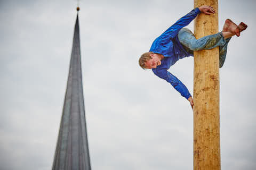
M174 75L164 69L156 69L153 72L161 79L166 80L171 83L174 89L180 92L181 96L188 99L191 95L187 89L187 87Z

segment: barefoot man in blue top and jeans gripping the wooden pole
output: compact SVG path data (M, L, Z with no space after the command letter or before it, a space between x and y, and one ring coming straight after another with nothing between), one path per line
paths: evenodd
M192 108L194 102L188 89L167 70L178 60L193 56L193 52L196 50L212 49L217 46L219 46L219 60L220 67L222 67L226 59L229 40L235 35L239 37L240 32L247 28L243 22L237 26L230 19L227 19L221 32L196 39L189 29L183 27L186 27L201 12L210 15L215 13L215 9L206 5L195 8L156 38L149 52L142 54L139 58L139 65L142 69L152 69L159 78L171 83L181 96L188 99Z

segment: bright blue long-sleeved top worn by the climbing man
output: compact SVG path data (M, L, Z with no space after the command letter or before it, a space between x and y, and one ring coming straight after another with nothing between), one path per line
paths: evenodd
M149 50L150 52L162 54L164 56L164 59L161 61L162 64L158 65L156 69L152 69L152 71L159 78L171 83L172 86L180 92L181 96L186 99L191 96L187 87L167 70L181 58L191 56L191 54L186 52L181 45L178 39L178 33L181 28L186 27L191 21L193 21L199 13L199 8L195 8L187 15L183 16L164 33L162 33L161 36L156 38Z

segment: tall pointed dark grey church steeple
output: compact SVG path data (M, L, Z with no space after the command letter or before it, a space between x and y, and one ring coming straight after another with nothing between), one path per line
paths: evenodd
M78 13L73 38L67 90L52 166L52 170L57 169L91 169L82 88Z

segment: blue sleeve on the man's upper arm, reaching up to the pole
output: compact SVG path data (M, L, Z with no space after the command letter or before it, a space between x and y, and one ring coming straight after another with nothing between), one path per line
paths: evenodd
M160 37L164 39L170 39L174 38L180 31L181 28L186 27L191 21L193 21L197 14L199 14L201 11L199 8L195 8L191 12L189 12L187 15L183 16L181 19L179 19L177 22L175 22L170 28L168 28Z

